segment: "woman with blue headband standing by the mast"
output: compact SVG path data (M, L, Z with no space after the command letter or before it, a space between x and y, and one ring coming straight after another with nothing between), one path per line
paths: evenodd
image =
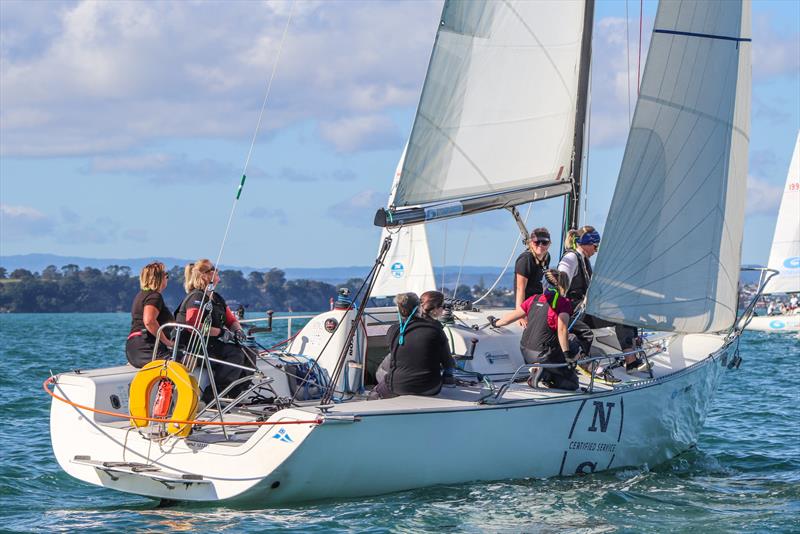
M586 297L589 290L589 283L592 279L592 264L589 258L597 253L600 247L600 233L593 226L582 226L577 230L567 232L564 241L566 252L558 263L558 270L566 273L569 277L569 291L567 297L577 307ZM636 328L621 324L604 321L593 315L585 314L580 320L575 321L572 333L578 338L584 354L589 354L594 334L592 328L602 328L613 326L617 336L617 341L622 352L631 352L636 343ZM625 357L626 371L647 370L645 362L634 355Z

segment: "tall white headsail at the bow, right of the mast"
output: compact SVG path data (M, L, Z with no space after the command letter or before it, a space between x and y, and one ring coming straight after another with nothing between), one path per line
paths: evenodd
M661 2L588 313L714 332L736 318L750 2Z

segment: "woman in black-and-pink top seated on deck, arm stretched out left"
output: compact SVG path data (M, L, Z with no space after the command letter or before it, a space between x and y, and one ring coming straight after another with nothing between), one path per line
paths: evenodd
M546 287L542 294L532 295L516 310L507 313L500 319L489 317L493 327L505 326L521 319L528 318L525 330L520 339L520 351L527 363L567 363L574 361L575 354L570 351L568 339L569 318L572 314L572 303L565 293L569 286L566 273L549 269L545 271ZM541 371L540 373L536 371ZM578 389L578 377L573 369L566 366L554 368L531 369L531 380L528 383L536 386L538 381L547 387Z

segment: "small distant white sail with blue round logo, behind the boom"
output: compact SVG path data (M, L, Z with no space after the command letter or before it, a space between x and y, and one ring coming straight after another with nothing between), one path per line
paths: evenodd
M397 191L407 149L408 147L403 150L403 155L397 164L392 190L389 194L390 205ZM379 250L388 235L389 232L384 228L378 244ZM436 281L433 277L433 264L425 225L403 226L399 230L393 231L392 246L386 254L383 268L378 273L378 279L372 289L372 296L389 297L409 291L421 295L432 289L436 289Z

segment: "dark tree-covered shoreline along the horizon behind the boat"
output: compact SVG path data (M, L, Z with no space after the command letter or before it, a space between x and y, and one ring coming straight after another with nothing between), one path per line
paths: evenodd
M353 278L334 286L316 280L287 280L280 269L253 271L246 276L241 271L223 270L219 273L219 292L232 308L239 304L249 312L321 311L329 307L337 290L347 287L355 293L362 280ZM457 298L474 299L483 294L483 284L472 288L460 285ZM15 269L8 272L0 267L0 312L128 312L133 297L139 291L138 273L124 265L109 265L104 270L78 265L61 268L50 265L39 272ZM183 267L169 271L169 284L164 301L174 310L185 296ZM448 296L452 295L452 290ZM504 289L492 291L482 302L486 306L513 305L513 294Z

